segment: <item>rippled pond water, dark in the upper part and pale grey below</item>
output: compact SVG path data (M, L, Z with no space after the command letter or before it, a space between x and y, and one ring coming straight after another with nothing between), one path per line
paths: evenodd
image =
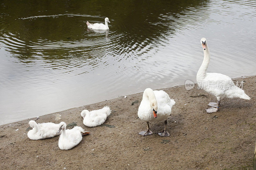
M0 124L195 81L202 37L210 72L256 71L252 0L0 4Z

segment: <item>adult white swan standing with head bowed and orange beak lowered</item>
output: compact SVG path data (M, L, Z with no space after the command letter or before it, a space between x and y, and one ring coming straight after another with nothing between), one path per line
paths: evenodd
M138 109L138 116L142 121L147 122L147 130L141 131L140 135L152 135L148 122L158 122L164 120L164 130L157 132L162 137L169 137L166 130L167 118L171 115L172 106L175 104L173 99L163 90L145 89Z

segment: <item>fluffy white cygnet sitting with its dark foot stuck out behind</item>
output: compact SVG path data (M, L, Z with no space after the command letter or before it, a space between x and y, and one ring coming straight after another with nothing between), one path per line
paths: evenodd
M75 126L73 129L67 129L65 122L60 122L59 131L61 135L59 138L59 148L62 150L68 150L78 145L82 140L82 134L87 135L91 132L85 131L80 126Z

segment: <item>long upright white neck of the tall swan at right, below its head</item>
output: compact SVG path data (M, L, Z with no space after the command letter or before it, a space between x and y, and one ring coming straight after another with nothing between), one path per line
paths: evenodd
M207 72L207 68L208 65L210 63L210 50L208 48L208 45L206 44L206 49L204 50L204 60L203 63L201 65L201 67L199 68L197 74L196 74L196 81L200 81L202 79L205 78L206 72Z

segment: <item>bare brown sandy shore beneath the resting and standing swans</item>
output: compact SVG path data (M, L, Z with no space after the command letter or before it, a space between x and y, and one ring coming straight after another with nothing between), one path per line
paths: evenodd
M213 114L205 109L216 98L197 86L189 91L184 85L163 89L176 101L168 118L170 137L156 134L164 128L164 121L150 123L153 135L138 135L147 127L137 116L142 93L29 119L76 122L92 132L68 151L59 149L59 137L30 140L29 120L2 125L0 169L252 169L256 76L233 80L245 81L243 89L252 99L225 99L220 112ZM132 105L135 100L139 102ZM103 125L83 125L83 109L105 105L113 111Z

